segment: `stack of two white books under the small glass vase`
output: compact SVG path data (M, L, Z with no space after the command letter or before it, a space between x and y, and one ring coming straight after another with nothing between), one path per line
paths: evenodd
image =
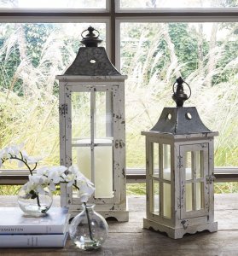
M64 247L70 214L51 207L44 217L28 217L19 207L0 208L0 247Z

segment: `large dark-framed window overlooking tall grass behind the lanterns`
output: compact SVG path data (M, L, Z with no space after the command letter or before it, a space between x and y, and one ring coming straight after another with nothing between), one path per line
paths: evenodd
M162 108L175 106L171 85L179 75L192 88L188 106L219 131L215 166L238 166L237 1L32 3L0 1L0 148L25 142L29 154L44 157L42 165L59 163L55 75L72 63L91 25L129 77L127 168L144 169L140 132L153 127Z

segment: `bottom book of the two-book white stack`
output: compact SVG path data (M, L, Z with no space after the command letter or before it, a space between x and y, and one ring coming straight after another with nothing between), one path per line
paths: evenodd
M0 247L64 247L67 235L0 235Z

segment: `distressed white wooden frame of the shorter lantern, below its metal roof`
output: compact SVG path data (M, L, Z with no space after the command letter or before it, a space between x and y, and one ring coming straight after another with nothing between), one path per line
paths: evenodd
M146 185L147 185L147 211L143 220L144 228L153 228L167 233L171 238L182 238L184 234L194 234L197 231L218 230L218 223L214 222L214 148L213 137L218 132L208 134L172 135L156 131L144 131L146 136ZM171 218L165 218L163 212L163 189L160 188L160 214L153 212L153 183L152 180L165 182L161 177L153 176L154 143L171 145ZM203 176L196 181L203 182L203 207L202 209L186 212L186 181L185 178L185 153L200 150L203 152ZM161 151L160 151L161 154ZM162 167L160 155L160 167ZM161 171L160 171L161 172ZM195 182L195 180L193 180ZM193 186L194 187L194 186ZM194 200L195 201L195 194Z

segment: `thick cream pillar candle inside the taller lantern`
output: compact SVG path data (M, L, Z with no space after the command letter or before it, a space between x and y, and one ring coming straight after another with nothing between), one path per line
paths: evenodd
M89 139L79 140L77 143L90 143ZM97 144L112 143L110 139L95 139ZM77 163L79 171L85 177L91 180L92 173L95 176L95 197L96 198L112 198L113 197L113 148L112 146L97 145L94 148L94 166L95 170L91 171L91 148L78 147Z

